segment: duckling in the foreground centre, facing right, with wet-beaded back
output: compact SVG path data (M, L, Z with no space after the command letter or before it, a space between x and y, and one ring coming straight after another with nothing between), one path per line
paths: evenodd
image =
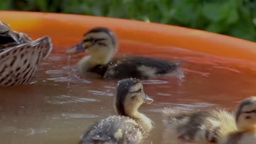
M141 143L152 130L152 121L138 112L143 103L151 104L142 83L135 79L118 82L114 97L116 115L101 119L85 133L82 143Z

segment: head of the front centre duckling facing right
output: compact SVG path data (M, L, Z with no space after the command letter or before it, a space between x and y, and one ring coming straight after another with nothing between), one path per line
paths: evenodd
M114 110L118 115L136 116L143 103L151 104L152 98L144 93L142 83L135 79L124 79L118 82L114 98Z

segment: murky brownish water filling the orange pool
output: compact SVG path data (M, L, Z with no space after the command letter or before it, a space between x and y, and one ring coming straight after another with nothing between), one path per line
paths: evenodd
M101 117L113 115L112 100L117 81L89 79L75 73L75 63L85 55L63 53L56 45L31 85L1 87L1 143L78 143L85 130ZM129 51L121 41L121 55ZM147 45L145 45L147 46ZM256 95L256 63L219 58L178 48L152 47L138 55L185 61L183 75L144 80L145 92L154 99L140 111L155 122L147 143L170 143L165 136L161 110L227 109ZM153 49L154 48L154 49ZM123 50L122 50L123 49ZM71 63L71 67L68 66ZM173 143L199 143L176 141Z

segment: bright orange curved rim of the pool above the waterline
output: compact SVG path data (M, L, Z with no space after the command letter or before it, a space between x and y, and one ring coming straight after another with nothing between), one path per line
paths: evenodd
M112 29L122 40L181 47L220 57L256 62L256 43L253 41L197 29L110 17L27 11L0 11L0 17L16 31L49 35L53 42L68 45L73 44L58 36L79 41L86 29L104 26ZM130 47L130 50L136 51L136 48Z

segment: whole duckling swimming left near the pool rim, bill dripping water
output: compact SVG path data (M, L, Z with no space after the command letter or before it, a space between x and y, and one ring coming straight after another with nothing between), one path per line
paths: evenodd
M150 79L171 73L182 62L142 56L120 56L117 52L115 34L105 27L96 27L85 32L82 41L66 53L86 51L90 55L78 62L78 71L90 77L103 79Z

